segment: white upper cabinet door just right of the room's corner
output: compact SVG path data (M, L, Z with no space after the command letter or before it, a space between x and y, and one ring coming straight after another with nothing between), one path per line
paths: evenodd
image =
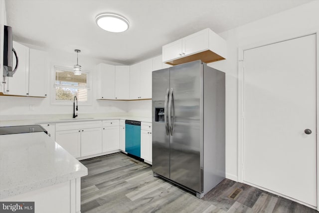
M141 63L130 66L130 99L140 99Z

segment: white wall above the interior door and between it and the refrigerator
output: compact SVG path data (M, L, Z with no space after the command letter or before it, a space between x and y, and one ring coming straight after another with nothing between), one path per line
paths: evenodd
M227 60L209 66L226 72L226 177L237 181L238 48L281 41L319 29L319 1L220 33L228 44ZM296 53L298 54L298 53Z

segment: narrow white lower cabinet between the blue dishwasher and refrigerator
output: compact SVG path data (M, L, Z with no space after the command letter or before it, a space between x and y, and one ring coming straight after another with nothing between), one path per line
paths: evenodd
M152 164L152 123L141 123L141 158Z

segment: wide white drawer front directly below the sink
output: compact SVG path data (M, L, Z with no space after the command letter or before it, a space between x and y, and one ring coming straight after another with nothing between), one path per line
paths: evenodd
M74 129L88 129L101 127L101 121L78 121L78 122L65 122L57 123L55 131L74 130Z

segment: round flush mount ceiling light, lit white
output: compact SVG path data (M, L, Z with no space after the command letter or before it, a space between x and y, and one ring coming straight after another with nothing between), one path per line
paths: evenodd
M116 13L102 13L96 16L95 20L99 27L109 32L124 32L130 26L125 17Z

